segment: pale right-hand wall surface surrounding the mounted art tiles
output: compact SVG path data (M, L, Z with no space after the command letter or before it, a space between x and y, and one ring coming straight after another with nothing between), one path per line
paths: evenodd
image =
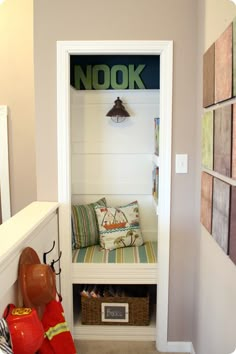
M236 7L231 1L199 1L199 119L203 114L203 53L217 40L235 16ZM199 152L200 149L199 147ZM199 155L199 161L200 158ZM235 349L235 320L232 315L236 313L235 278L235 264L202 226L193 322L193 345L197 354L231 353Z

